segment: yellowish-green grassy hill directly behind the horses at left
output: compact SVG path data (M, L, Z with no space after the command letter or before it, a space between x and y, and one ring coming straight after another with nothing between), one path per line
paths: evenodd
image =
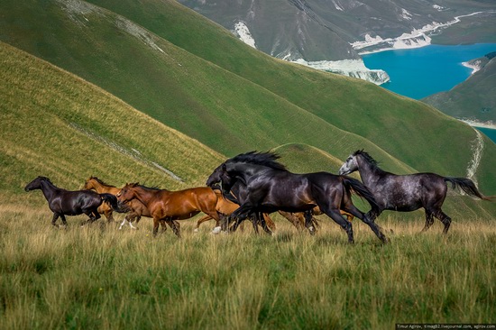
M136 111L102 89L0 43L0 198L19 202L39 175L78 189L91 175L115 185L204 185L216 151Z

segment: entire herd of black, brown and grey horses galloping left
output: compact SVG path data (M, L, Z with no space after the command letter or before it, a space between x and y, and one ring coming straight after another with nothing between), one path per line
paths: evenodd
M351 220L357 217L370 226L372 232L383 242L388 238L381 227L375 224L383 210L409 212L423 207L426 224L423 231L433 223L434 217L448 232L451 218L442 211L447 192L446 183L458 186L464 193L484 197L470 179L442 177L434 173L396 175L381 170L372 156L365 151L355 151L344 162L339 175L328 172L295 174L289 172L273 152L250 151L225 160L208 177L207 187L188 188L179 191L149 188L139 183L126 184L123 188L107 185L96 177L85 182L83 190L69 191L55 187L51 180L38 177L30 182L26 191L41 189L53 212L51 224L60 217L67 225L65 215L89 216L86 223L92 223L106 215L112 222L112 212L127 213L119 229L142 216L152 217L153 234L161 226L162 231L169 225L180 237L178 220L188 219L200 212L206 215L197 221L216 220L214 233L235 231L243 220L252 220L258 233L258 226L271 234L274 224L269 216L280 212L299 230L307 228L316 233L317 220L313 215L326 214L340 225L354 243ZM348 174L358 171L363 182ZM352 193L362 197L371 206L364 214L353 204ZM343 215L346 215L344 218ZM85 224L86 224L85 223ZM84 224L83 224L84 225Z

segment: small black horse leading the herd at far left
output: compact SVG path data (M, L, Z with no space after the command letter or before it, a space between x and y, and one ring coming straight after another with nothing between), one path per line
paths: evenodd
M55 222L59 217L62 219L62 224L67 225L65 215L82 215L83 213L89 216L86 223L92 223L100 218L97 208L103 202L109 203L116 211L120 211L117 197L112 194L97 194L92 190L69 191L57 188L50 179L45 177L33 179L24 188L25 191L34 189L41 189L48 201L48 206L53 212L51 225L58 226Z

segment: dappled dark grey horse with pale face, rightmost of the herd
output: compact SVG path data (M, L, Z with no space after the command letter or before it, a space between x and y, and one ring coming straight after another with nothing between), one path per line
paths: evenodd
M426 231L433 223L434 216L439 219L447 233L451 218L442 211L445 202L446 182L451 182L453 188L458 186L468 195L490 200L484 197L473 184L471 179L442 177L435 173L416 173L396 175L377 166L377 161L365 151L355 151L339 169L339 174L349 174L358 170L363 183L372 191L378 206L372 207L367 214L373 221L383 210L400 212L415 211L420 207L426 210Z

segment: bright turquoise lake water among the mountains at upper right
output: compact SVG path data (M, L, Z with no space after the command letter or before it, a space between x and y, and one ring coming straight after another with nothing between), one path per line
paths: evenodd
M442 46L429 45L410 50L384 50L363 55L369 69L383 69L390 82L381 85L391 92L414 99L450 90L469 78L472 69L462 62L496 51L496 43ZM496 142L496 130L480 131Z

